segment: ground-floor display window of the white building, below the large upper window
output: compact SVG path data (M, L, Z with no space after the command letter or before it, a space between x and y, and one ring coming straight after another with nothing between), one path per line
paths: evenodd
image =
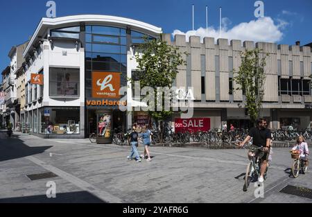
M44 108L49 110L50 117L47 121L46 129L42 126L42 132L48 134L80 134L80 108L64 107L64 108ZM42 115L42 119L45 119Z

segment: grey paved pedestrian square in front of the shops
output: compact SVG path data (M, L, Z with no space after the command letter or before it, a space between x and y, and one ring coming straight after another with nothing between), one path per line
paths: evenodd
M312 189L312 173L289 177L289 148L275 148L264 198L254 186L243 192L247 164L241 149L151 147L152 162L128 161L128 146L91 144L89 139L41 139L0 133L0 202L312 202L279 193L287 184ZM139 147L142 153L143 147ZM31 181L26 175L58 177ZM56 198L46 198L46 183Z

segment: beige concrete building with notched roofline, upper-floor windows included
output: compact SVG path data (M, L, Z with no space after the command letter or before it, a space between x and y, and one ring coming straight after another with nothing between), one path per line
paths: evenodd
M233 70L241 64L240 52L255 47L262 49L266 59L266 83L261 116L270 121L271 128L293 125L298 130L312 127L311 96L311 47L274 44L266 42L241 42L241 40L166 34L165 40L186 51L186 67L180 67L177 87L193 87L195 96L194 116L209 117L211 128L221 128L221 122L234 123L236 128L250 126L243 100L245 96L236 89ZM201 84L201 85L199 85ZM173 119L174 122L174 119Z

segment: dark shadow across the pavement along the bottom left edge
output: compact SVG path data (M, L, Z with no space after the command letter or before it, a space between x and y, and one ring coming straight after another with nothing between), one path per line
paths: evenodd
M56 193L56 198L42 196L26 196L19 198L3 198L0 203L107 203L87 191Z

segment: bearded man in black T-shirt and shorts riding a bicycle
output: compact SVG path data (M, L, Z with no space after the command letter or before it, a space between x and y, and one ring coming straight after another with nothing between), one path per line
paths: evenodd
M270 153L270 140L271 140L271 132L266 128L266 120L265 119L257 119L257 126L255 128L251 128L248 132L248 136L244 141L241 142L240 146L243 147L247 141L250 141L253 138L252 146L257 148L263 147L263 150L256 150L255 155L261 159L261 175L259 177L259 182L263 182L263 175L266 172L268 156ZM248 152L248 158L251 159L252 153Z

